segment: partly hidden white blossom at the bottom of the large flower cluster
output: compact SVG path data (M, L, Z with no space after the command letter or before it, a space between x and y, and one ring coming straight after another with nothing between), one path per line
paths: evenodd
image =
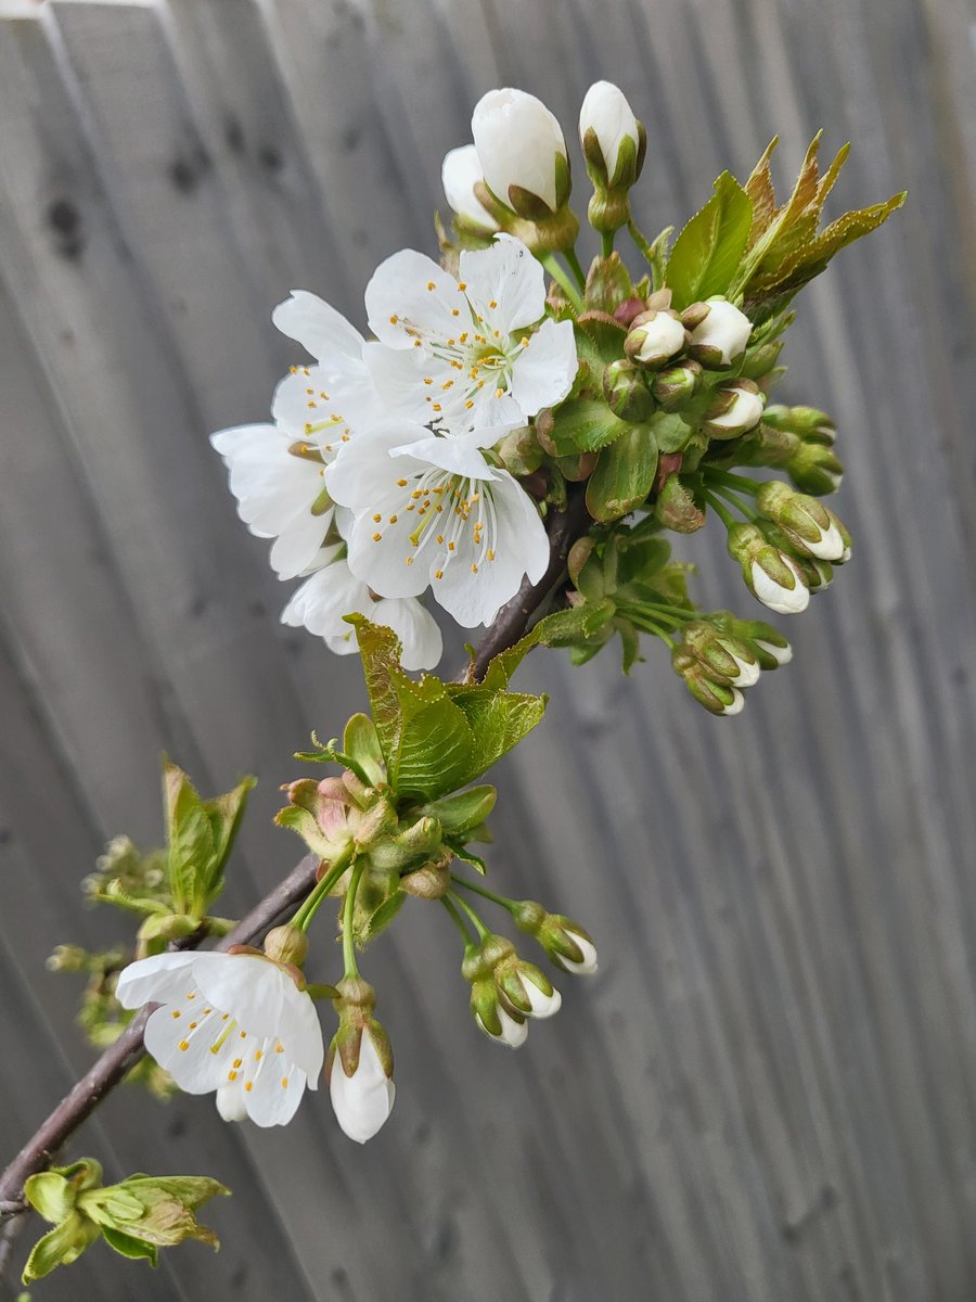
M342 543L321 548L310 566L311 575L282 611L281 622L308 629L337 655L351 655L358 650L355 631L344 616L366 615L397 634L405 669L432 669L442 651L437 621L415 596L379 598L371 592L370 585L350 570L345 551Z

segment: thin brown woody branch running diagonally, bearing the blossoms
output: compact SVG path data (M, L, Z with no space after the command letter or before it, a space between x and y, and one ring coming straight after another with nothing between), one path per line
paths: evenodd
M549 566L539 583L522 585L519 592L501 608L495 624L481 639L474 659L474 676L484 676L492 656L513 646L526 631L535 611L549 596L566 566L566 556L588 523L582 492L575 492L565 512L556 512L549 521ZM217 949L230 945L252 944L277 922L281 914L297 905L315 883L319 866L315 855L306 855L284 881L251 909L234 930L220 941ZM190 937L185 948L198 943ZM104 1096L113 1090L146 1052L143 1031L150 1013L156 1005L144 1008L122 1031L100 1059L72 1087L38 1131L21 1148L10 1165L0 1176L0 1216L5 1219L0 1229L0 1276L10 1254L13 1237L27 1211L23 1202L23 1184L29 1176L48 1167L59 1150L86 1121Z

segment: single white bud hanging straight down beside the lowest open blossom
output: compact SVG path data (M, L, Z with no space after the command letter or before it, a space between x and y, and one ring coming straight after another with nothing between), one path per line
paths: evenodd
M333 1000L340 1016L325 1060L325 1081L340 1128L357 1143L372 1139L393 1111L393 1049L372 1016L376 995L362 978L344 978Z

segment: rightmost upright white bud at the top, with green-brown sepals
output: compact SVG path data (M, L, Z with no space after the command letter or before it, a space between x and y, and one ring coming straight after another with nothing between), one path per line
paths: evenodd
M627 223L627 191L640 176L647 133L623 91L612 82L596 82L579 112L579 143L593 197L588 217L596 230L617 230Z

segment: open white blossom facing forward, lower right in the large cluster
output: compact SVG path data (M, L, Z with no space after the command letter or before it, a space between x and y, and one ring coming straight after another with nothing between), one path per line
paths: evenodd
M353 574L389 598L419 596L429 583L463 628L491 624L523 575L537 583L549 564L532 499L470 436L375 426L329 467L327 483L355 514Z

